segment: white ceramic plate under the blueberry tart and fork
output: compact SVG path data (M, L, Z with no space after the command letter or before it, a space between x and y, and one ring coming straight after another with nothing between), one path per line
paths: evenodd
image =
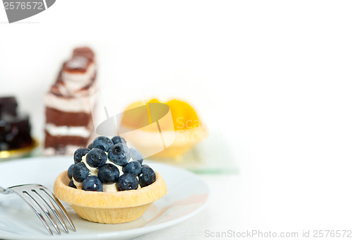
M56 176L72 163L72 157L34 157L1 162L0 186L42 184L52 191ZM208 186L195 174L167 164L144 163L163 176L168 193L155 201L138 220L123 224L88 222L64 203L77 231L66 234L61 229L61 235L54 233L54 236L49 236L42 222L23 200L14 194L1 195L0 239L132 239L177 224L205 208Z

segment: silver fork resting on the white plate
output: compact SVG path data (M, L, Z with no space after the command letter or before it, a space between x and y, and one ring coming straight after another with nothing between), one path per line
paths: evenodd
M61 210L61 212L66 217L66 220L68 220L68 223L71 225L71 228L73 229L73 231L76 232L76 228L73 225L73 222L70 216L68 216L68 213L66 212L64 206L61 205L58 198L56 198L54 193L51 193L51 191L49 191L48 188L39 184L24 184L24 185L18 185L18 186L11 186L9 188L0 187L0 193L3 193L3 194L16 193L18 196L20 196L20 198L25 200L25 202L30 206L30 208L32 208L32 210L35 212L37 217L40 218L40 220L44 224L44 227L48 230L49 234L53 235L53 232L52 232L52 229L50 229L47 221L44 219L41 213L41 210L42 212L44 212L44 215L46 215L49 221L52 223L56 232L58 234L61 234L61 232L58 227L58 224L56 224L54 217L49 212L48 208L52 210L52 212L54 212L54 215L61 223L61 226L64 228L65 232L68 233L68 228L66 227L66 224L62 219L60 213L56 209L56 207Z

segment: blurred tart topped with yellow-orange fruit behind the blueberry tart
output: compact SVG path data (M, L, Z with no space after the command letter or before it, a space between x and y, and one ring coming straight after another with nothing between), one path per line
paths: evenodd
M166 110L163 105L169 109ZM138 108L142 110L132 112L132 109ZM156 126L153 125L155 123ZM175 160L208 135L190 104L181 100L170 100L162 104L156 99L145 105L143 102L135 102L128 106L121 118L119 133L138 148L144 157ZM150 154L152 151L153 155ZM148 156L145 156L145 152L149 153Z

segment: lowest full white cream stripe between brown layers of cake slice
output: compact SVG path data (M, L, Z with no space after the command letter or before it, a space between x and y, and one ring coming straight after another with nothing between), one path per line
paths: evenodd
M80 136L88 138L91 133L85 126L56 126L54 124L46 124L45 129L52 136Z

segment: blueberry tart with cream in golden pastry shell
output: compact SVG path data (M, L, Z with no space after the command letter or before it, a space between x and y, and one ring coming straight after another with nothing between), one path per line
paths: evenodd
M98 137L73 158L56 178L54 193L90 222L131 222L167 193L162 176L119 136Z

